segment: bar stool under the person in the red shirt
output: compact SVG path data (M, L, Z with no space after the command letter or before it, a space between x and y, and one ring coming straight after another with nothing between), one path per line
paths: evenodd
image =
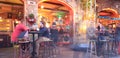
M18 41L14 44L14 58L30 58L30 41Z

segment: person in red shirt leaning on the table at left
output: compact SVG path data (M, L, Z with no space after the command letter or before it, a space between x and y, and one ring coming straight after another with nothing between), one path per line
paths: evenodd
M21 32L27 31L28 27L25 26L24 20L21 20L19 24L15 27L13 30L12 36L11 36L11 41L12 42L18 42L18 36L20 35Z

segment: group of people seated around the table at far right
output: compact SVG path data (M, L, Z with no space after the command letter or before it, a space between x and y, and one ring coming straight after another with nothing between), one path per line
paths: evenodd
M103 54L102 50L104 45L104 40L111 41L111 48L110 49L118 49L120 46L120 24L114 23L109 24L107 27L103 25L98 25L93 32L95 35L92 37L89 37L89 39L95 39L96 42L96 48L98 52L98 56ZM116 51L118 52L118 51Z

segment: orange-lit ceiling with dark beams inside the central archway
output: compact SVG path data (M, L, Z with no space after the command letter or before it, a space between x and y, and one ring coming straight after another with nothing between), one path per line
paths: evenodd
M59 2L50 2L50 1L44 1L39 3L38 10L40 14L55 15L55 13L58 12L69 13L69 9L65 7L63 4L60 4Z

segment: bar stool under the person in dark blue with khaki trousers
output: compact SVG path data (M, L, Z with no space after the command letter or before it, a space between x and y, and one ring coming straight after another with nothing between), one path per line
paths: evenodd
M56 46L49 38L42 37L39 39L39 58L54 58L56 54Z

